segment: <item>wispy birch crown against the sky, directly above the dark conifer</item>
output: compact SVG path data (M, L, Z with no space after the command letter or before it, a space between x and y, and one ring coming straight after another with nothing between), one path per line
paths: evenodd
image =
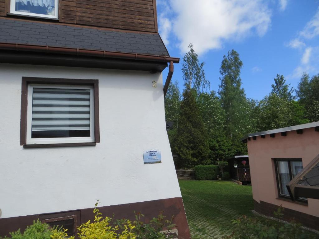
M189 52L183 57L182 72L185 86L189 85L200 92L210 87L210 83L206 80L204 65L205 62L199 63L198 54L193 49L193 44L189 44Z

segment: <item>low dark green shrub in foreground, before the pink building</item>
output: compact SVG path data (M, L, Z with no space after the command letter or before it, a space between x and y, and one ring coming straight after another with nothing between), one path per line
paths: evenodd
M261 217L247 217L245 215L233 221L235 230L231 235L223 236L223 239L315 239L317 235L301 228L301 224L294 220L290 223L282 223L280 218L284 216L279 207L274 215L277 220L265 219Z

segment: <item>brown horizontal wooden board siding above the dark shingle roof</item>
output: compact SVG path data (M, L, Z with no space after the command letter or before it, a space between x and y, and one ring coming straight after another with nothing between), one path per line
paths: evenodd
M5 4L10 5L10 0L0 0L0 16L10 11L5 9ZM61 23L157 32L156 15L156 0L59 1Z

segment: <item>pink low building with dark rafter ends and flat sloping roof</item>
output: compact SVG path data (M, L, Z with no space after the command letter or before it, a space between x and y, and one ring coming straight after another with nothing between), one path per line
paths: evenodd
M255 210L273 216L282 205L285 220L319 230L319 122L249 134L243 141Z

